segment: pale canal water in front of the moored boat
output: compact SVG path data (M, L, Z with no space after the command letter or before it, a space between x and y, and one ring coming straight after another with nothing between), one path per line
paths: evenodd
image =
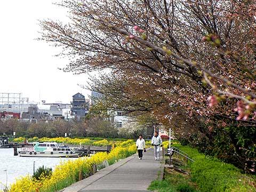
M52 157L20 157L13 155L13 149L0 149L0 190L6 184L7 186L15 182L16 178L27 174L33 175L33 164L35 162L35 170L39 166L54 167L60 164L61 161L76 158L52 158ZM5 171L6 170L6 171Z

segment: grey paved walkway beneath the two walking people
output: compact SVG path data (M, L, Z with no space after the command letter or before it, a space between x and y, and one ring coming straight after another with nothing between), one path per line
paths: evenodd
M74 183L65 192L135 192L147 191L151 181L162 179L163 164L155 161L153 150L143 153L143 159L138 154L100 170L89 178Z

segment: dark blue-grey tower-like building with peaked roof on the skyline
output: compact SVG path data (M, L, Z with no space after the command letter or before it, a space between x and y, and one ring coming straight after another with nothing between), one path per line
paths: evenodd
M85 117L89 112L89 101L85 99L81 93L73 95L73 102L71 102L71 114L80 118Z

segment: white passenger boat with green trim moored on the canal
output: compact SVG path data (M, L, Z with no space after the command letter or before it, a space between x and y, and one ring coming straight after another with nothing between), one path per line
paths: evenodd
M79 154L68 146L57 142L33 142L34 147L23 147L21 157L79 157Z

